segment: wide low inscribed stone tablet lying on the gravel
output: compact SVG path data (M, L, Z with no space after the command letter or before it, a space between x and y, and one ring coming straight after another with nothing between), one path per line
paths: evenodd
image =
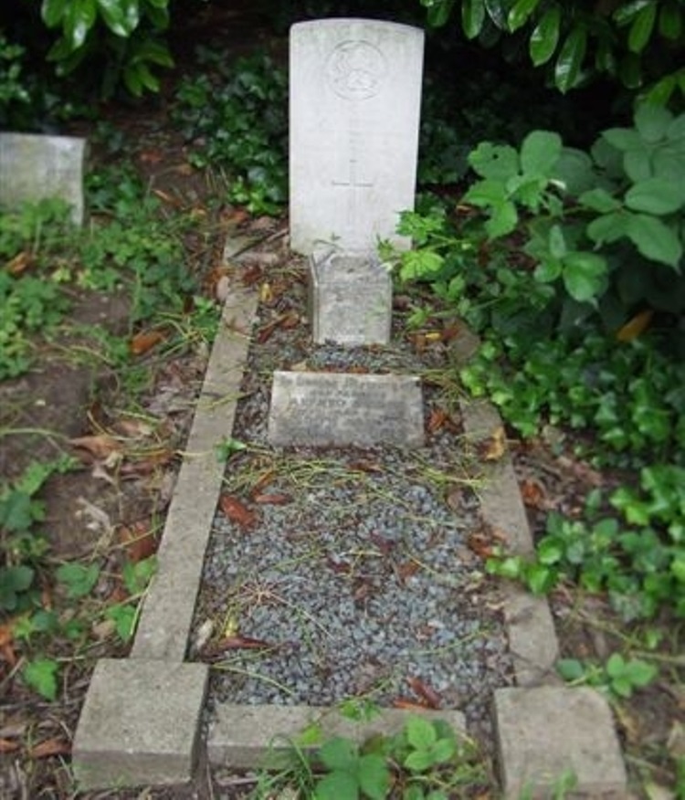
M409 375L276 372L269 442L421 447L420 381Z

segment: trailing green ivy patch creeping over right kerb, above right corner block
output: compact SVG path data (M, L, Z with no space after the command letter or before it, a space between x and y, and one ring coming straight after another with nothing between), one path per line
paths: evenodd
M640 472L639 489L617 489L602 514L592 498L583 520L551 514L532 559L503 555L488 570L546 593L562 578L606 592L627 621L668 608L685 617L685 468L656 465ZM595 506L595 508L592 508Z

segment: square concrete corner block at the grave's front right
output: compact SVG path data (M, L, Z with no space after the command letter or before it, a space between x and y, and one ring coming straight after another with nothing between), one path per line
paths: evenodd
M611 710L594 689L497 689L494 710L507 800L555 796L564 774L574 776L574 796L627 796Z

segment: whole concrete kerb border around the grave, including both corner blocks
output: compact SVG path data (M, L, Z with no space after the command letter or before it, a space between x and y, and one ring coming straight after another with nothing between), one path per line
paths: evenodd
M245 238L229 240L226 256L248 247ZM81 790L184 784L194 776L209 669L184 658L225 468L215 447L233 428L257 301L256 292L234 287L225 303L131 656L100 661L81 711L72 748ZM462 415L467 437L474 440L482 441L501 427L500 416L486 403L465 403ZM532 552L508 454L490 465L486 478L480 494L484 521L508 535L513 552ZM522 786L533 796L548 794L562 763L573 767L580 794L625 793L625 767L606 700L592 692L592 701L569 702L569 689L555 676L558 643L546 599L508 586L505 621L517 683L516 688L497 690L493 698L505 797L518 797ZM582 742L588 709L600 722L594 728L599 733L592 753ZM431 713L465 730L460 713ZM331 710L227 705L209 732L207 753L211 763L254 767L273 752L273 742L284 742L311 721L322 723L324 736L342 732L364 738L379 726L385 731L401 726L405 717L404 711L387 710L371 727L341 728L345 723ZM537 748L533 732L541 719L548 726L544 750ZM527 730L532 731L529 739ZM569 740L574 731L578 735ZM570 751L569 741L575 742ZM601 742L606 747L598 754Z

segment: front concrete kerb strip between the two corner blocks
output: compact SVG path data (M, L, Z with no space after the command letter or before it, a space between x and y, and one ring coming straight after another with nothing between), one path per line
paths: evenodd
M458 711L421 711L429 720L444 720L455 732L466 732L466 721ZM317 724L321 741L344 736L364 742L377 734L393 735L402 730L406 718L416 711L384 709L373 720L355 722L336 709L312 706L240 706L224 703L217 707L207 738L207 760L236 769L276 766L292 742L310 725ZM315 749L315 748L311 748Z

